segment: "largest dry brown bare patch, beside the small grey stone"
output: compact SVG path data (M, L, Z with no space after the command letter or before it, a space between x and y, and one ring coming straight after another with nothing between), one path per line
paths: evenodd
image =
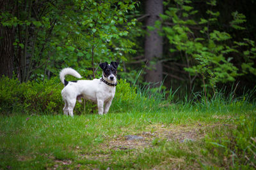
M167 141L178 141L180 143L186 141L197 141L204 138L206 131L211 127L216 127L217 124L212 125L164 125L152 124L146 127L147 131L132 134L140 136L143 139L128 140L125 136L117 136L109 139L103 143L101 148L108 148L114 150L129 150L138 148L147 148L152 146L154 138L166 139Z

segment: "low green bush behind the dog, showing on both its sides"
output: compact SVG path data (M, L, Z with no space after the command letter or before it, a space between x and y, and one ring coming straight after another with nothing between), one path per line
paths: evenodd
M58 77L45 81L28 81L20 83L17 78L0 78L0 111L8 114L13 112L25 113L62 113L64 106L61 90L63 85ZM132 88L126 80L119 80L111 111L124 111L131 108L136 89ZM93 110L96 104L90 101L76 103L76 114L97 112Z

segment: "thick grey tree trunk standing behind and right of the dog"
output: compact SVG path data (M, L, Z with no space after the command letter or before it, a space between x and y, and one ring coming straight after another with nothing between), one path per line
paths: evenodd
M146 26L154 27L155 22L163 13L163 0L146 1ZM159 36L157 29L149 31L145 37L145 59L147 60L146 81L156 83L163 80L163 67L160 61L163 54L163 38ZM160 83L157 84L159 86Z

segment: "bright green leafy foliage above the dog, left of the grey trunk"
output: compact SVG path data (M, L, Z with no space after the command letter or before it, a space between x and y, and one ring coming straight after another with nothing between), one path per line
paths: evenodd
M126 60L134 43L126 39L136 22L125 14L133 1L17 1L1 24L15 30L15 73L20 81L44 80L61 67L79 67L95 77L96 65ZM9 6L9 8L14 6Z

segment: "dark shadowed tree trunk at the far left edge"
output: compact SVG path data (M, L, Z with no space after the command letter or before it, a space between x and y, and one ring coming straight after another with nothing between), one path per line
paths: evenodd
M0 1L0 10L12 13L8 6L13 6L13 1ZM12 78L14 55L14 27L0 24L0 76Z

